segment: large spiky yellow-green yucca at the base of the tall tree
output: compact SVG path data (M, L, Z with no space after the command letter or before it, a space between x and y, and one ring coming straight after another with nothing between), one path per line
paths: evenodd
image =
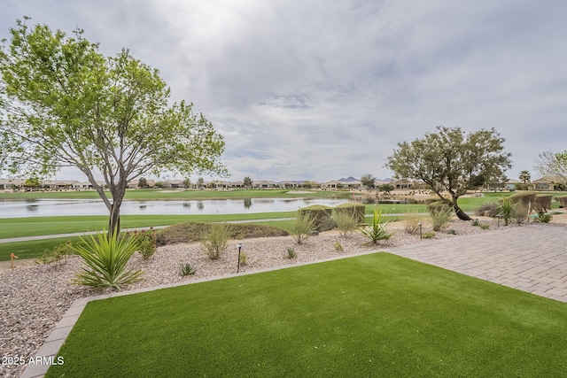
M72 248L87 267L75 274L73 283L120 290L120 286L136 282L142 276L141 270L126 270L129 259L138 251L136 238L125 237L120 232L108 235L103 230L97 235L89 235L89 240L81 240L82 244Z

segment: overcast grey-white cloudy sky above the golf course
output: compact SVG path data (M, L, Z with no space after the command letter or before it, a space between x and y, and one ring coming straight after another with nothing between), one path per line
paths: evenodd
M24 15L159 69L232 181L390 177L439 125L496 128L514 179L567 150L564 0L2 0L0 38Z

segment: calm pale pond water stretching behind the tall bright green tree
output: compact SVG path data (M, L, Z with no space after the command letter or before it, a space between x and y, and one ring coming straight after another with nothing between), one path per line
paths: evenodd
M124 201L122 215L139 214L242 214L294 212L312 204L336 206L348 199L330 198L247 198L181 201ZM59 215L108 215L102 200L30 199L0 200L0 218L50 217Z

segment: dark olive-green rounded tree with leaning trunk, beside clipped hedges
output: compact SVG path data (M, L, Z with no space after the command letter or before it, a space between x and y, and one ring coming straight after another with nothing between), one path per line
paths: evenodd
M470 220L457 199L473 188L475 177L504 179L511 164L503 143L493 128L465 134L460 127L440 126L423 138L398 143L385 166L398 178L423 181L459 219Z

